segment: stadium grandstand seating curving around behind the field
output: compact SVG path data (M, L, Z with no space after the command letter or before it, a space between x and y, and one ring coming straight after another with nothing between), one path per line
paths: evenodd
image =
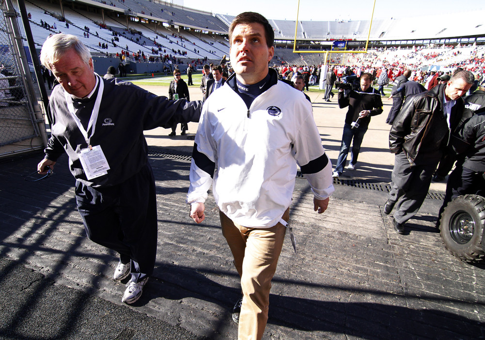
M146 69L175 63L183 70L188 63L197 68L219 63L228 54L227 32L234 18L157 0L25 0L25 5L39 51L50 34L75 34L94 57L123 53L126 63L152 63ZM299 21L296 25L295 20L269 18L275 30L274 64L320 65L333 41L345 40L348 51L362 51L370 32L368 51L374 53L376 67L400 60L413 67L458 65L482 51L485 11L464 14L467 20L460 25L453 15L440 15L439 20L437 16L374 18L372 27L371 20ZM396 48L399 51L392 51ZM307 51L314 53L303 53ZM363 58L355 54L347 62L359 60ZM143 68L134 64L132 70Z

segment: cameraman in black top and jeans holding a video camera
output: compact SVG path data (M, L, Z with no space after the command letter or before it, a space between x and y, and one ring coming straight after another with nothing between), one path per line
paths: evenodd
M339 88L339 107L348 106L349 110L345 116L339 158L332 175L334 178L339 178L343 172L352 140L354 140L352 143L352 159L347 169L355 169L360 144L362 144L371 116L382 113L381 95L375 88L371 87L371 81L372 74L362 73L359 81L360 86L354 87L348 95L344 95L343 89Z

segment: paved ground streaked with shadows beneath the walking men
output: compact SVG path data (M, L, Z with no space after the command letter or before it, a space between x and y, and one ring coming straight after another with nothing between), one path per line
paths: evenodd
M343 115L319 96L311 96L315 120L335 161ZM263 339L485 338L485 267L454 258L434 228L443 185L434 184L405 235L383 214L392 166L379 156L386 131L374 120L359 168L334 182L323 215L297 178L290 219L297 254L287 237ZM121 303L124 283L112 279L116 254L85 237L66 157L34 183L21 175L42 154L0 162L1 339L237 339L230 313L240 288L217 208L210 194L206 221L190 219L190 142L167 133L147 133L158 253L131 306Z

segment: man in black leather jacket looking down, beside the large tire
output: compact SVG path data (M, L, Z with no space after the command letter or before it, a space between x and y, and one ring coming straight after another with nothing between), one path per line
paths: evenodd
M431 177L450 137L463 122L461 98L474 81L473 73L455 72L447 84L435 86L404 103L389 132L389 149L396 154L389 199L384 213L394 205L394 230L404 233L404 223L421 207Z

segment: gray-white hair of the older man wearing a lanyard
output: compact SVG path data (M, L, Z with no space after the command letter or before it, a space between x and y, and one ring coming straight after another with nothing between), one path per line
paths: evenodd
M76 35L63 33L54 34L47 38L40 51L40 62L51 70L52 65L58 62L71 49L74 49L81 59L86 64L89 64L89 60L91 59L89 49Z

